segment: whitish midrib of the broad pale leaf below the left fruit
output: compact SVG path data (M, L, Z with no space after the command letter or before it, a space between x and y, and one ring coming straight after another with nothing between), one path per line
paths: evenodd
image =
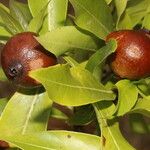
M27 115L27 117L26 117L26 119L25 119L25 123L24 123L23 129L22 129L22 134L25 134L25 132L26 132L26 129L27 129L27 126L28 126L28 122L29 122L29 120L30 120L32 111L33 111L33 109L34 109L34 104L35 104L35 102L36 102L36 100L37 100L37 97L38 97L38 95L36 94L36 95L34 96L34 99L33 99L32 104L31 104L31 106L30 106L28 115Z

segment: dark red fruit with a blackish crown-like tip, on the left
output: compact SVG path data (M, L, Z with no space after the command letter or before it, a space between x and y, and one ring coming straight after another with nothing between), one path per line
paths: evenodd
M47 52L34 36L36 34L32 32L13 36L1 53L1 65L6 76L23 87L39 85L28 76L29 71L56 64L56 57Z

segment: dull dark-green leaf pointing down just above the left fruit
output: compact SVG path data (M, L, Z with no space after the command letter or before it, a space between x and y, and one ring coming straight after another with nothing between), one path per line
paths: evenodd
M10 14L19 22L24 31L26 31L27 26L32 19L28 5L15 0L10 0L9 8Z

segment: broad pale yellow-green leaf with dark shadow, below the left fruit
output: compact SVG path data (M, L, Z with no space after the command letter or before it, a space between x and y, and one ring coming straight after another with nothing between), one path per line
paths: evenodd
M52 102L46 93L15 93L0 118L0 136L46 130Z

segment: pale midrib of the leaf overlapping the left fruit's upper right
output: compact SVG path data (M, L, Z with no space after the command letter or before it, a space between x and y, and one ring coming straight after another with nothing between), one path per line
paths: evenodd
M49 44L49 42L44 42L44 43ZM52 41L50 41L50 43L52 43L52 44L54 44L54 45L68 46L68 47L71 47L71 48L77 48L77 49L89 50L89 51L93 51L93 52L96 51L95 49L92 49L92 48L79 47L79 46L74 45L74 44L68 44L68 43L65 43L65 44L64 44L64 43L62 43L62 42L52 42Z

